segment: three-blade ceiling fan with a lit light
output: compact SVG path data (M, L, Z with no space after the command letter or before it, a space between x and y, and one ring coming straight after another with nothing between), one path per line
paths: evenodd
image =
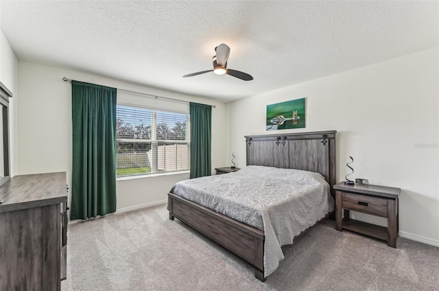
M221 45L215 47L215 52L216 52L216 55L213 56L213 60L212 60L213 70L201 71L201 72L192 73L189 75L184 75L183 78L213 72L217 75L227 74L227 75L233 76L235 78L238 78L238 79L241 79L244 81L251 81L253 79L252 76L250 76L246 73L227 68L227 60L228 60L228 56L230 55L230 47L228 47L227 45L224 45L224 43L222 43Z

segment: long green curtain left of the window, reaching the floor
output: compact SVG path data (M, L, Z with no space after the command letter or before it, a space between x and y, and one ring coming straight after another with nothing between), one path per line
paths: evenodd
M116 211L116 95L115 88L71 81L72 220Z

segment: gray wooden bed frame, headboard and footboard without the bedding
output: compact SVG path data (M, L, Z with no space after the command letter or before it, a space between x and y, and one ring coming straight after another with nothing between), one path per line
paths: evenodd
M314 131L298 134L246 136L247 165L309 170L322 174L335 197L335 133ZM224 214L168 193L169 219L178 218L211 240L241 257L263 276L264 232Z

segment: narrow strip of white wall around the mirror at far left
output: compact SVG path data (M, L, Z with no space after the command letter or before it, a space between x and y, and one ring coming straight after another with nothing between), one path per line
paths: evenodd
M12 92L9 103L10 114L10 170L11 176L16 175L16 116L18 103L18 60L0 29L0 81Z

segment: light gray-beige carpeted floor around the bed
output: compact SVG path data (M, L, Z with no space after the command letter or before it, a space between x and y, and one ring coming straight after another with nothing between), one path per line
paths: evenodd
M324 220L284 246L265 283L165 205L69 225L62 291L439 290L439 248L385 242L335 230Z

